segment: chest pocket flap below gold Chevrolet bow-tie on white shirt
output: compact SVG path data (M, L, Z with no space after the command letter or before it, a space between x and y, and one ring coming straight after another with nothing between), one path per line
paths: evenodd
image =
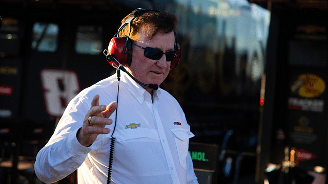
M152 130L149 128L135 128L135 129L122 129L119 131L115 131L114 137L119 142L152 142L159 141L159 137L157 135L156 130Z

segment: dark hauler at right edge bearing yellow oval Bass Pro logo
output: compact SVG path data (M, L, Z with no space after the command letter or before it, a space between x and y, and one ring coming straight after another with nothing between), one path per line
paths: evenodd
M272 3L265 70L270 105L258 137L261 180L327 183L327 8L327 1Z

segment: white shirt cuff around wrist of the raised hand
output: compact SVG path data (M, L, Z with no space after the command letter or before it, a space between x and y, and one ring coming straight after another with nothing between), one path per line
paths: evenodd
M76 138L76 133L77 130L74 130L72 133L70 133L70 135L68 136L68 142L67 142L67 146L69 151L72 153L72 155L77 156L77 157L81 157L83 159L86 158L86 155L92 150L89 147L85 147L83 145L81 145L77 138Z

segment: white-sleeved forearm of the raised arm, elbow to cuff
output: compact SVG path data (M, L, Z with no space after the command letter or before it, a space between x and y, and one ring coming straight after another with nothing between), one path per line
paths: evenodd
M84 162L91 149L79 144L76 131L64 139L48 144L38 152L34 169L40 180L46 183L56 182L71 174Z

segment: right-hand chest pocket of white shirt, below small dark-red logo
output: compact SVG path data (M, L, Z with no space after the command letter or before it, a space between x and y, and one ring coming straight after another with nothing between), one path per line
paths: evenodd
M176 149L178 150L180 165L187 169L189 139L195 135L186 129L171 129L171 131L174 136Z

